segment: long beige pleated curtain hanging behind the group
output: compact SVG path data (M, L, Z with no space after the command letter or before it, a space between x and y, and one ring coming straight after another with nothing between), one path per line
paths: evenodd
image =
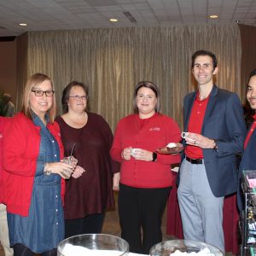
M212 50L218 57L217 84L241 96L241 39L232 26L172 26L29 32L27 76L46 73L61 92L72 80L90 87L90 109L114 130L132 113L137 82L150 80L161 90L162 113L183 124L183 96L194 90L191 55Z

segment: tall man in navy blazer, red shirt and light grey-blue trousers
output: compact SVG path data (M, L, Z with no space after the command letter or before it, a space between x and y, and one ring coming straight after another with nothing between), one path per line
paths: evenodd
M191 68L198 90L183 101L185 149L177 177L183 235L224 251L224 195L237 189L236 154L246 125L238 96L213 84L216 56L196 51Z

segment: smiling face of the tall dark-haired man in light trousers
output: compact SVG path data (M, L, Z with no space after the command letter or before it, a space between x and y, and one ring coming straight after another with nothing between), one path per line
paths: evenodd
M213 84L213 75L218 73L218 67L213 68L212 57L209 55L199 55L195 58L192 68L195 80L199 85Z

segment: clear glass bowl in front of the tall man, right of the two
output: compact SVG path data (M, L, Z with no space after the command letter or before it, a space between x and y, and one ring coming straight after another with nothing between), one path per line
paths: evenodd
M199 253L201 250L206 249L206 253L201 252L201 256L207 255L217 255L223 256L224 253L218 249L218 247L213 247L210 244L201 241L190 241L190 240L170 240L162 241L151 247L150 256L170 256L171 253L179 250L182 253Z

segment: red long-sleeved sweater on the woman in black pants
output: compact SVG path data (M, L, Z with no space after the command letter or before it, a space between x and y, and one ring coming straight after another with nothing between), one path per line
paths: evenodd
M136 188L166 188L172 186L171 164L178 163L180 156L158 154L157 160L123 160L124 148L143 148L154 152L168 143L181 140L177 123L166 115L154 114L149 119L139 119L131 114L119 121L110 154L121 163L120 183Z

